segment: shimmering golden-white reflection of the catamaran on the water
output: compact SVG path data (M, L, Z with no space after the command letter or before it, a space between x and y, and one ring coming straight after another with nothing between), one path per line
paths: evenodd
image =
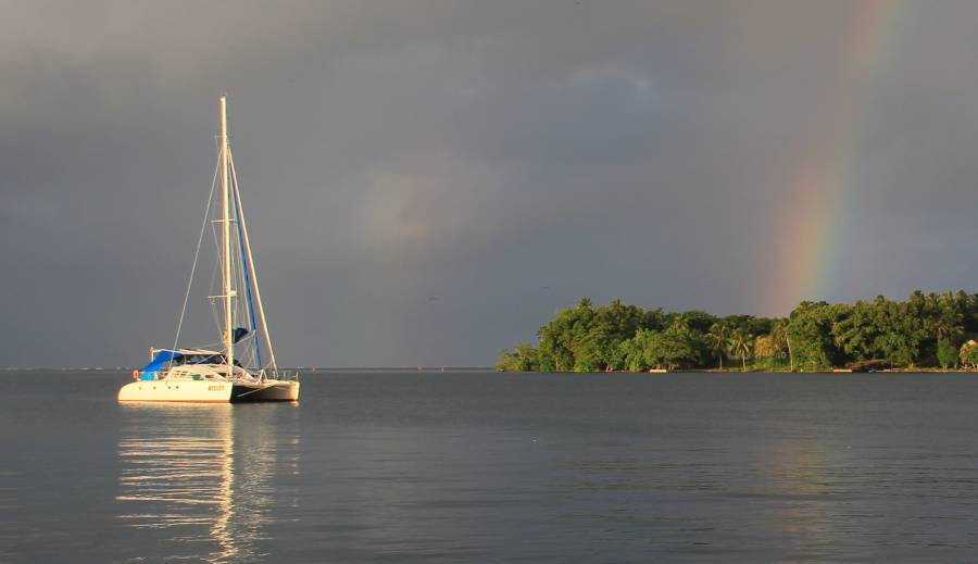
M159 547L174 559L258 556L265 527L297 503L288 488L274 487L276 476L298 474L298 438L290 436L297 413L192 404L124 409L138 417L121 430L116 500L118 518L138 546ZM153 414L148 428L138 423L147 410Z

